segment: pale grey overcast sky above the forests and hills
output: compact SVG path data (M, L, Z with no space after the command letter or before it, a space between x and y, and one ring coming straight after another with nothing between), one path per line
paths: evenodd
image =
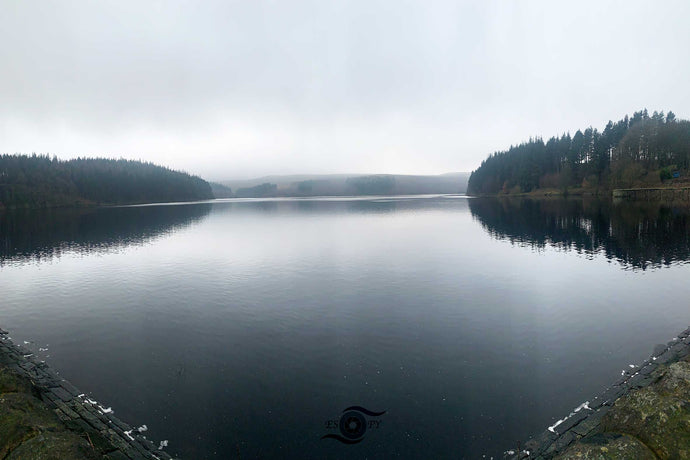
M470 171L690 118L687 1L0 0L0 152L211 180Z

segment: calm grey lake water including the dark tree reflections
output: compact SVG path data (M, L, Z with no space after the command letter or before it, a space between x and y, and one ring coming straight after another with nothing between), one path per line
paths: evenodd
M690 325L688 259L687 209L596 201L6 213L0 327L185 459L490 458Z

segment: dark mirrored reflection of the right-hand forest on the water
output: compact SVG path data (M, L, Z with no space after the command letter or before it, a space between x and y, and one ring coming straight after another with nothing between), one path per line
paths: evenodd
M474 199L472 215L494 237L604 254L646 270L690 259L690 207L596 199Z

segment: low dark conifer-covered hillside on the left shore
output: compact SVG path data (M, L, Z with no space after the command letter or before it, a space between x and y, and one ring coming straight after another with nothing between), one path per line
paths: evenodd
M0 208L113 205L213 198L205 180L133 160L0 156Z

